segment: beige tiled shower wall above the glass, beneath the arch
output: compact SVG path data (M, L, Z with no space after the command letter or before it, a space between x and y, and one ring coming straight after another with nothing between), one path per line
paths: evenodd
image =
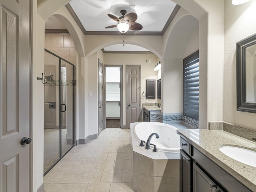
M70 34L45 34L44 47L76 66L76 48Z

